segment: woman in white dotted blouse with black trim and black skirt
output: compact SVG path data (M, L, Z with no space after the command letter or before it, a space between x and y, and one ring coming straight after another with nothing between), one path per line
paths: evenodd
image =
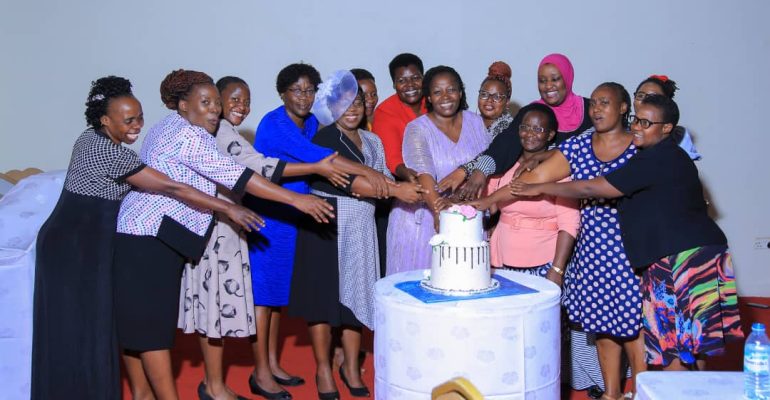
M147 165L212 195L220 184L238 194L291 204L319 222L334 217L322 199L285 190L218 152L211 134L219 126L222 106L211 77L198 71L172 71L160 93L174 112L147 133L140 153ZM276 168L272 177L280 173ZM132 191L120 205L116 321L135 398L178 398L170 349L179 317L180 277L186 259L203 255L212 222L211 212L150 191Z

